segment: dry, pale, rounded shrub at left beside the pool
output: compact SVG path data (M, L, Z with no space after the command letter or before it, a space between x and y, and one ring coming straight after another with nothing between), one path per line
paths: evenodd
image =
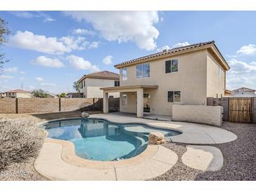
M0 119L0 170L36 157L43 138L43 130L34 121Z

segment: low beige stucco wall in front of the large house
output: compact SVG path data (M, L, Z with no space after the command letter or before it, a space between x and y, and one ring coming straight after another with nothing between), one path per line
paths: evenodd
M222 107L203 105L173 105L173 121L222 125Z

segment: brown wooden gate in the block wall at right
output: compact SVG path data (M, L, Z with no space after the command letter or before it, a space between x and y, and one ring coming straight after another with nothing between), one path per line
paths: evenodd
M251 97L229 97L229 121L252 123Z

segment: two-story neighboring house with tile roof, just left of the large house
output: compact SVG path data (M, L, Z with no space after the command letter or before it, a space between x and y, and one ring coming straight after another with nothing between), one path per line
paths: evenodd
M119 86L119 74L111 71L86 74L79 79L80 92L83 92L83 97L86 98L103 97L100 88L112 86ZM109 97L119 97L119 93L111 93Z

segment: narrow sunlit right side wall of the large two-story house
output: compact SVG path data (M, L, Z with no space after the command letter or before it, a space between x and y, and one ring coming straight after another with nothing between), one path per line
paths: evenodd
M207 97L224 96L226 72L210 53L207 54Z

